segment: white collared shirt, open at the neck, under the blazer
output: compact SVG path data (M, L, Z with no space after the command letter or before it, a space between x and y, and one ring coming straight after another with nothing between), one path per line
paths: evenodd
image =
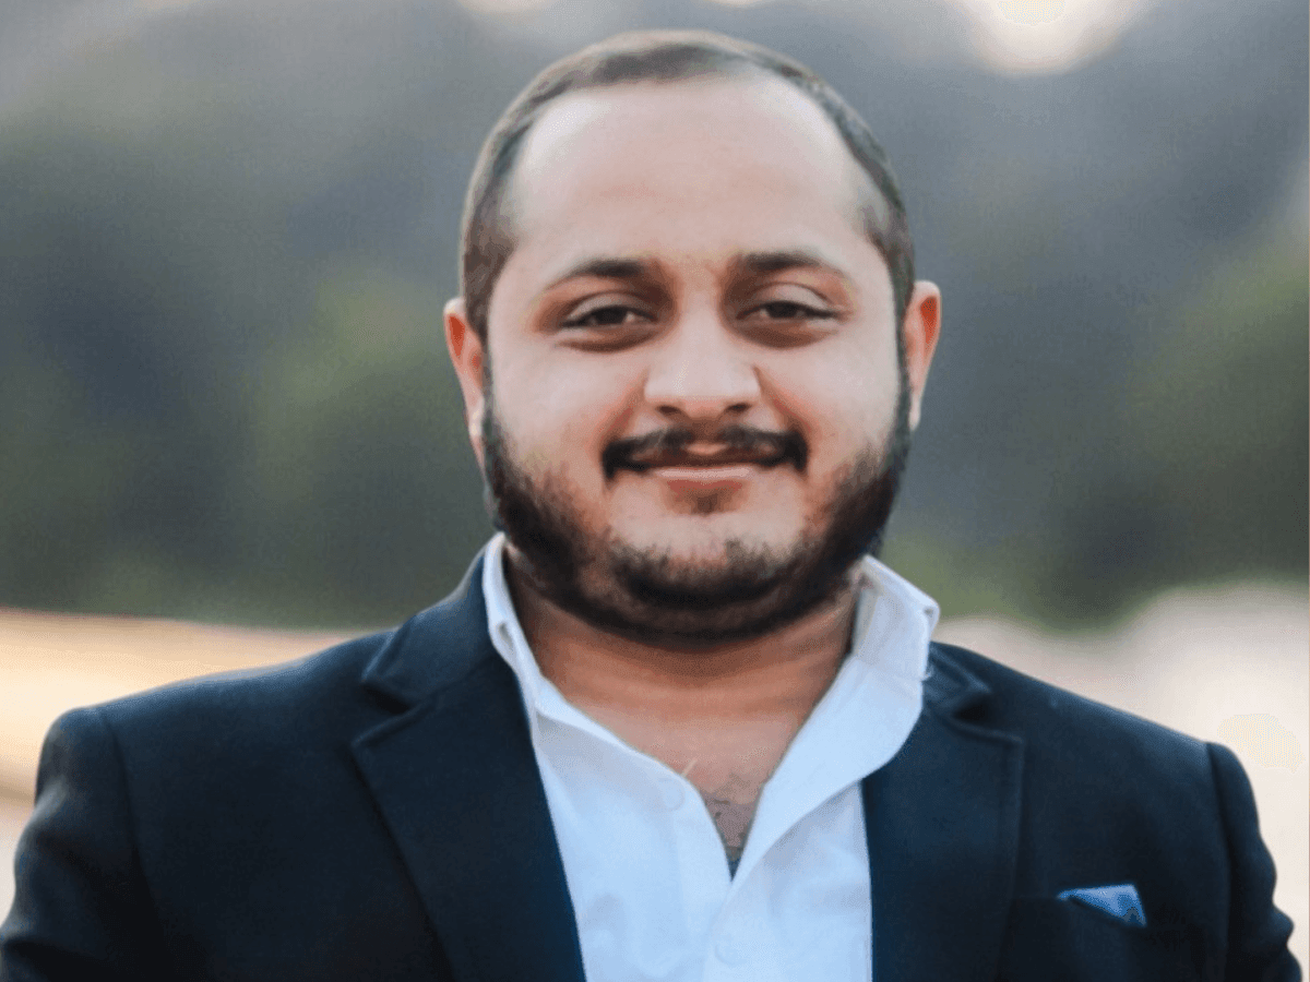
M592 982L871 977L859 782L918 719L938 608L875 559L861 573L852 653L765 783L730 876L696 787L541 674L506 584L504 536L491 539L487 626L523 690Z

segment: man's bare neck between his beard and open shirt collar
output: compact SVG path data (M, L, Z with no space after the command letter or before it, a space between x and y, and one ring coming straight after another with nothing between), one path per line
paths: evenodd
M799 727L850 644L854 577L825 605L768 635L680 651L588 625L515 572L511 550L506 558L519 622L542 676L593 716L645 716L676 727L782 715Z

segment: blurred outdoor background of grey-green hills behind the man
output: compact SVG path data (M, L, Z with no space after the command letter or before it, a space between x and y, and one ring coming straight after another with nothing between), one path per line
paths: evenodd
M641 26L869 119L945 293L884 559L943 635L1238 749L1303 920L1303 0L0 0L8 827L62 707L457 581L464 183L537 69Z

